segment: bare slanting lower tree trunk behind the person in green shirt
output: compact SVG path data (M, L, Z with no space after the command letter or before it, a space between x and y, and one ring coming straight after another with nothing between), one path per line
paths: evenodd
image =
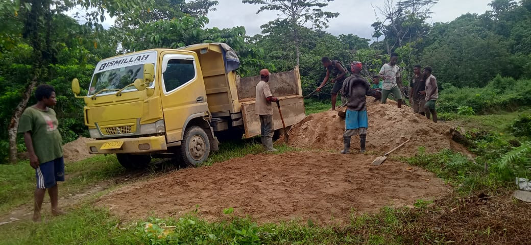
M22 116L22 112L28 105L28 101L31 97L31 91L33 91L33 88L37 85L37 76L33 76L33 79L26 87L26 90L22 94L22 100L20 101L19 105L16 106L15 111L13 112L13 116L11 117L11 123L9 124L9 127L7 129L8 135L9 135L9 162L14 164L18 160L18 149L16 147L16 132L19 127L19 119L20 116Z

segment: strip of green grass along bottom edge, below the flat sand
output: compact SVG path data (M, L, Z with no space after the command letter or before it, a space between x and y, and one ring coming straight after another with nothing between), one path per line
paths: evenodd
M178 219L149 218L153 226L145 230L147 222L122 224L105 209L82 205L47 224L3 225L0 244L403 244L407 235L401 230L408 219L402 216L411 214L407 208L383 208L375 215L353 213L346 226L320 226L312 221L257 224L230 212L221 221L207 222L191 213ZM175 229L159 237L161 223Z

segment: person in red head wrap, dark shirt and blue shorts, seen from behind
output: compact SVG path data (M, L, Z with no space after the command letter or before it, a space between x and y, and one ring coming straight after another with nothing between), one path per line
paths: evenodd
M365 95L371 96L372 90L369 82L360 74L362 71L361 62L353 62L350 65L352 76L349 76L343 83L341 95L348 100L345 117L345 133L343 134L343 145L345 149L341 154L350 152L350 139L353 135L359 134L359 151L365 152L365 141L367 138L367 100Z

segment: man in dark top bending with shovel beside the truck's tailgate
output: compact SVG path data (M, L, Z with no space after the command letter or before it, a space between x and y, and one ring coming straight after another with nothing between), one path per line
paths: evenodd
M334 76L331 83L333 83L332 87L332 110L336 109L336 98L337 93L343 86L343 81L345 81L345 78L348 77L348 72L345 70L341 62L339 60L330 60L328 57L323 57L321 59L321 62L323 63L323 66L327 68L327 75L324 77L323 82L319 87L317 87L316 91L321 91L324 85L327 84L328 78L330 78L330 75Z

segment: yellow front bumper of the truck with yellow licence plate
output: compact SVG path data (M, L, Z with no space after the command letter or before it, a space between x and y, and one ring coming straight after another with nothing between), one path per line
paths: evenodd
M109 145L114 146L108 148ZM140 138L100 139L87 142L87 148L90 153L95 154L151 153L168 150L166 136L164 135Z

